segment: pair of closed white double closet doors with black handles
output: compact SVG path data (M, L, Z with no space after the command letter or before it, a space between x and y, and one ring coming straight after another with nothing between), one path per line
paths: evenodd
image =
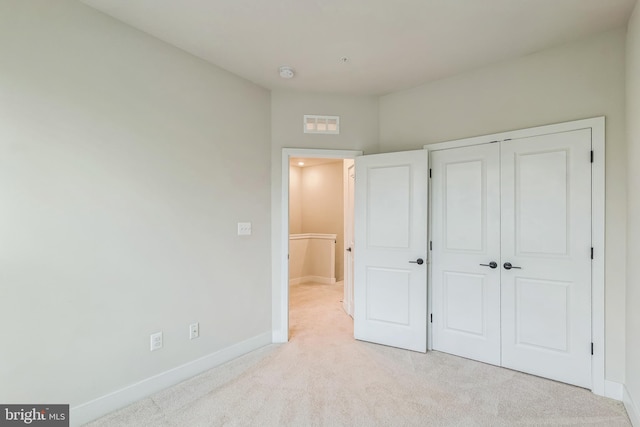
M591 129L434 151L433 349L591 387Z

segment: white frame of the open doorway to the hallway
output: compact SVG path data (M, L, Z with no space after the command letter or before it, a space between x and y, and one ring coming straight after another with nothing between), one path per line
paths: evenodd
M285 343L289 341L289 160L291 157L309 159L355 159L362 156L357 150L324 150L313 148L283 148L281 171L280 199L280 257L273 260L280 264L279 286L274 289L273 310L279 315L273 316L272 341ZM275 313L274 313L275 314Z

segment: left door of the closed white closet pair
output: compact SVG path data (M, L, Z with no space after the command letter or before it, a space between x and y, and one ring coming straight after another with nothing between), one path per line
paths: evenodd
M497 143L431 154L433 348L495 365L502 268L499 159Z

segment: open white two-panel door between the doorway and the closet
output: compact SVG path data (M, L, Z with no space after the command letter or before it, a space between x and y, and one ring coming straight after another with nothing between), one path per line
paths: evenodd
M356 158L354 335L427 350L427 151Z

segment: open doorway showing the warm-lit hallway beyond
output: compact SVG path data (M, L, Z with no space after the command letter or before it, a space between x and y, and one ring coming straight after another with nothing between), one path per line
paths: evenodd
M323 313L344 300L344 162L306 157L289 160L291 339L321 329L307 319L308 313Z

